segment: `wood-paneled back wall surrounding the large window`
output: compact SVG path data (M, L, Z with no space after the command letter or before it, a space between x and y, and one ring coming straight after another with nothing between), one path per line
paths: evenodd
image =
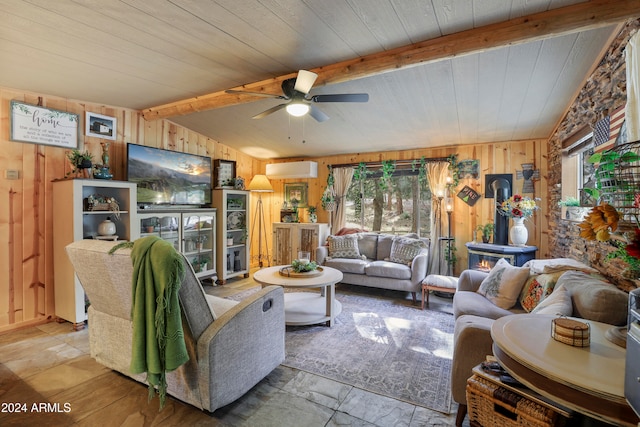
M290 182L308 182L309 203L318 206L318 221L329 222L329 215L321 208L320 198L326 186L328 165L349 164L359 162L380 162L382 160L412 160L425 158L441 158L451 154L458 154L458 160L478 159L480 161L480 179L462 179L457 191L468 185L478 193L484 195L484 184L486 174L511 173L513 174L514 192L522 190L523 181L516 178L516 171L522 170L523 163L533 163L535 169L540 171L540 178L535 181L535 193L526 194L531 197L538 197L540 210L534 217L526 221L529 230L529 245L538 246L537 257L548 257L548 207L547 207L547 141L527 140L512 141L489 144L468 144L452 147L424 148L418 150L391 151L378 153L347 154L330 157L305 158L304 160L314 160L318 162L317 179L290 179L271 180L274 193L263 198L265 203L265 215L271 215L278 221L278 214L282 202L284 201L284 184ZM303 160L289 159L288 161ZM478 224L493 221L495 199L485 199L482 197L473 207L468 206L458 197L454 196L454 211L452 215L452 232L455 237L458 262L456 264L456 274L467 268L467 250L464 244L474 239L474 230ZM268 208L267 208L268 207ZM306 220L306 212L303 214ZM269 222L269 221L267 221ZM269 235L270 224L269 227ZM335 230L334 230L335 231Z

